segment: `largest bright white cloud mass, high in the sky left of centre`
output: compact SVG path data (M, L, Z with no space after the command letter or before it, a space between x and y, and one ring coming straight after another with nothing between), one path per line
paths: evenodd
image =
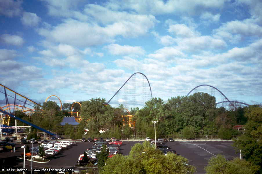
M38 33L50 41L90 47L111 43L116 36L145 35L158 22L152 15L112 11L92 4L86 6L85 12L93 22L66 19L55 27L40 28ZM106 12L108 14L104 14Z

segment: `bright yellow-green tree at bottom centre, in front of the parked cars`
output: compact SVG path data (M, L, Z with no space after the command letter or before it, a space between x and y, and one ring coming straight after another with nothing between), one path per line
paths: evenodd
M135 144L127 156L120 154L106 160L106 165L100 170L101 174L140 173L140 174L175 174L194 173L195 167L185 165L188 160L184 157L156 150L149 142Z

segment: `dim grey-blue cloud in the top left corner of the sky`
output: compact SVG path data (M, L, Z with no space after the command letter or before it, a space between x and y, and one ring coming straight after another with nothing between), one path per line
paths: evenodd
M0 0L0 14L8 17L18 16L22 11L22 0Z

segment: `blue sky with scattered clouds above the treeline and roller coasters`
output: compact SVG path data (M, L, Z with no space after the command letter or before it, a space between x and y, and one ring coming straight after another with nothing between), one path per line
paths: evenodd
M207 84L261 104L261 9L260 0L0 0L0 84L41 103L109 101L139 72L165 102ZM143 91L145 77L132 78L128 90Z

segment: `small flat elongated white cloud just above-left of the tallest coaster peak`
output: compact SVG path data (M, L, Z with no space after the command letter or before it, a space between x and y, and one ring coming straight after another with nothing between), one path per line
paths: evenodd
M146 52L140 46L120 46L118 44L110 44L104 48L107 48L112 55L144 55Z

